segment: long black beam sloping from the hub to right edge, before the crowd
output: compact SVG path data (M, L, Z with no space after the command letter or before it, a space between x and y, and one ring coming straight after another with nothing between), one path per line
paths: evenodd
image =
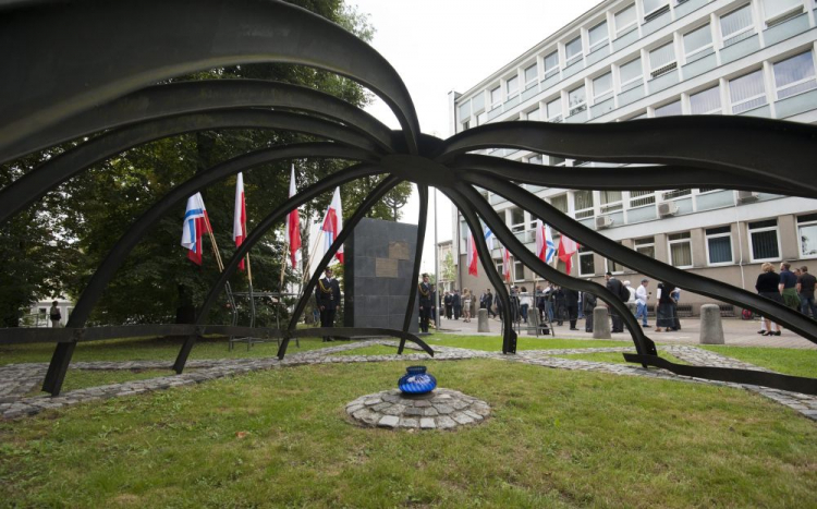
M698 276L688 270L681 270L671 265L658 262L645 256L634 250L611 241L600 233L590 230L574 219L565 216L545 203L534 194L508 183L503 179L480 173L462 173L464 181L489 189L491 192L504 196L519 207L540 217L545 222L568 234L580 244L590 247L597 253L605 253L611 258L627 267L637 267L638 270L655 279L669 281L685 290L702 295L719 299L730 304L752 310L764 316L773 316L775 322L783 324L809 341L817 343L817 322L807 316L778 304L769 299L749 293L731 284L725 284L714 279ZM496 232L495 232L496 233ZM683 281L678 283L676 281ZM632 314L630 314L632 316ZM629 323L627 323L629 324ZM636 324L637 325L637 324Z

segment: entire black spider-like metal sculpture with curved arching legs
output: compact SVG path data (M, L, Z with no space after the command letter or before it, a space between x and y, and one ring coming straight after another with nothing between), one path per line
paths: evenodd
M77 37L76 34L84 34ZM53 44L59 41L59 44ZM99 41L95 44L94 41ZM739 117L673 117L615 124L566 125L512 122L481 125L447 141L424 135L408 92L397 72L373 48L341 27L303 9L277 0L19 0L0 7L0 51L13 78L0 81L0 162L68 140L95 135L76 148L0 190L0 223L90 165L130 147L181 133L215 129L278 129L308 133L327 142L301 143L245 154L197 173L160 196L119 240L100 265L65 329L0 330L0 343L56 342L44 390L57 395L77 342L137 335L185 335L174 368L181 373L195 341L205 331L256 334L283 341L337 330L295 329L317 279L307 284L285 330L204 324L209 308L236 270L239 262L284 215L320 193L352 180L388 174L346 222L316 274L331 259L354 225L391 187L417 183L420 216L427 210L428 186L446 193L472 230L480 219L513 255L541 277L590 291L612 305L627 324L637 354L627 360L679 374L760 384L817 393L817 380L741 369L680 366L657 356L622 303L603 287L561 274L533 255L474 186L489 189L557 230L627 267L671 281L696 293L772 315L776 320L817 342L817 324L778 303L744 290L681 271L621 246L585 228L544 201L510 183L527 182L570 189L660 190L725 187L763 190L817 197L812 168L817 160L817 129L810 125ZM168 51L172 48L172 51ZM368 87L392 109L402 130L391 131L367 113L319 92L252 80L156 83L191 72L255 62L309 65L350 77ZM270 109L275 109L271 111ZM481 148L522 148L587 161L654 163L626 168L528 166L470 155ZM239 171L282 159L334 158L357 161L303 190L277 207L249 233L225 264L198 311L195 324L86 328L90 310L127 253L164 214L194 192ZM780 169L784 171L780 171ZM414 279L425 238L417 239ZM483 265L492 267L481 240ZM509 295L495 270L488 276L510 310ZM407 332L414 306L410 296L403 330L343 329L345 334L390 335L431 349ZM502 351L515 352L516 336L505 316Z

